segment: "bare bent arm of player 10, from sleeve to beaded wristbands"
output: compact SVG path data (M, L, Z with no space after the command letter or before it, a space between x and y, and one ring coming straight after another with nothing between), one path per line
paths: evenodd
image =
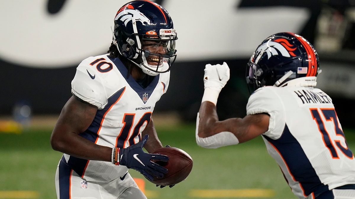
M52 132L52 148L77 158L111 161L112 148L99 146L79 135L89 127L96 112L97 107L71 97Z

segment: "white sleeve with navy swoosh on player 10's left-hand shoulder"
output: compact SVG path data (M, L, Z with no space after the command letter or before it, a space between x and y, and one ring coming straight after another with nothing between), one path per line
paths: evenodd
M90 66L93 60L93 57L89 57L79 64L71 82L71 92L98 109L103 109L107 104L105 87L97 70Z

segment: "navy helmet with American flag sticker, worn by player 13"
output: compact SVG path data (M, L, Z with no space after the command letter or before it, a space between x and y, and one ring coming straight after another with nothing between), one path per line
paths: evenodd
M320 73L312 44L294 33L277 33L265 39L251 56L246 70L250 92L263 86L284 86L287 81Z

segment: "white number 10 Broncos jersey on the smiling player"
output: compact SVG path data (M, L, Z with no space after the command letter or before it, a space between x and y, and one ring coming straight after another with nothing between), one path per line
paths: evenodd
M108 54L84 59L72 80L72 93L98 107L88 129L80 135L96 144L127 148L141 140L151 121L155 103L169 86L170 72L161 73L142 88L119 58ZM89 153L89 152L88 152ZM84 160L64 154L68 165L87 181L109 182L123 176L127 167L111 162Z

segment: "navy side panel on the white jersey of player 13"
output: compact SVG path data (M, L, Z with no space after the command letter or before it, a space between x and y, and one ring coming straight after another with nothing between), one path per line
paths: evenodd
M306 196L314 191L328 190L328 186L320 181L300 143L291 134L287 125L278 140L272 140L264 135L263 137L279 151L291 175L300 182Z

